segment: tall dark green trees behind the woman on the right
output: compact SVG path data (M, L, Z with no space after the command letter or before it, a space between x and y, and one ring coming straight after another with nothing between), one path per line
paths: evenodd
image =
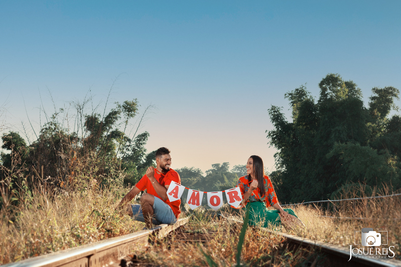
M282 108L271 106L273 130L266 131L277 148L271 173L283 202L326 199L349 183L383 184L399 189L401 118L387 118L399 91L373 88L369 108L360 89L338 74L319 83L317 102L301 86L284 95L292 106L292 122Z

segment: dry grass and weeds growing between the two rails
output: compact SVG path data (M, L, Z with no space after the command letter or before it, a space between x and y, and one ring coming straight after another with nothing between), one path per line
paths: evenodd
M190 222L170 234L170 239L150 246L146 253L138 251L134 256L136 263L147 266L235 265L242 225L214 214L202 210L194 212ZM200 235L203 241L191 240L194 233ZM294 266L314 262L318 257L311 256L310 251L304 249L294 253L282 236L251 227L245 235L241 263L249 266Z

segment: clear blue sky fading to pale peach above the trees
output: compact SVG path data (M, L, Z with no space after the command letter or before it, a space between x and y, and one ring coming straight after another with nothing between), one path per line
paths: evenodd
M38 127L39 93L49 113L51 97L68 107L89 89L104 104L115 80L111 102L156 106L141 130L149 151L171 149L173 168L256 154L273 169L267 109L289 115L284 93L306 83L318 96L331 72L353 80L365 104L375 86L401 89L400 10L401 1L2 0L0 105L13 130L25 109Z

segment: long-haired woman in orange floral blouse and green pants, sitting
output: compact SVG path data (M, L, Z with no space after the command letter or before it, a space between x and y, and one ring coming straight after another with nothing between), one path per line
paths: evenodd
M237 187L243 198L240 207L249 210L249 225L267 227L269 223L275 226L283 223L286 227L304 226L292 209L283 209L278 203L270 178L265 175L262 159L251 156L246 168L247 175L238 179ZM276 210L268 210L267 207Z

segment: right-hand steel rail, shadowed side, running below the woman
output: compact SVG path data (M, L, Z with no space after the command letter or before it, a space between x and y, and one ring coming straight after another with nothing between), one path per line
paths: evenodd
M222 214L219 214L221 217L231 220L231 221L236 221L237 223L243 223L241 220L233 219L233 218L228 218L225 217ZM322 252L326 255L326 257L330 261L330 265L332 266L401 266L401 261L395 260L395 259L372 259L372 258L365 258L365 255L361 255L361 257L355 257L359 255L354 255L352 254L352 257L350 259L350 249L344 249L343 247L340 247L338 245L332 245L329 243L324 243L321 241L314 241L311 239L306 239L303 237L297 237L295 235L289 235L286 233L281 233L278 231L273 231L267 228L261 227L264 231L267 231L273 235L281 235L285 237L290 245L296 246L296 247L308 247L311 248L314 251L319 251ZM363 257L362 257L363 256ZM349 261L348 261L349 260Z

